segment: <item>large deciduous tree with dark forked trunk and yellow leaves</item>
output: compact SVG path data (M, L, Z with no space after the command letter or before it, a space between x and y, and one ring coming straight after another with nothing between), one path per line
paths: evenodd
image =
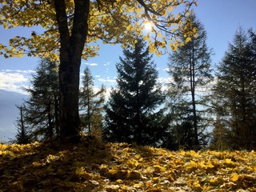
M78 92L79 70L82 58L97 55L94 42L127 42L131 34L142 34L145 22L154 24L153 38L150 32L145 38L150 42L150 51L162 54L170 40L172 49L181 43L176 30L190 25L187 16L195 0L28 0L2 1L0 25L41 26L31 37L15 36L10 46L0 44L1 54L6 58L33 56L58 58L61 106L62 137L77 136L79 132ZM178 11L174 11L179 8ZM182 34L196 34L196 29L182 30ZM38 31L37 31L38 30Z

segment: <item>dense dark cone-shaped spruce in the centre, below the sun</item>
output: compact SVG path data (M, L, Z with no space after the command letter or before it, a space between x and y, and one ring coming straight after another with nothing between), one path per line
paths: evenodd
M164 95L157 82L158 71L142 38L123 50L117 64L118 87L106 107L106 140L156 145L166 130L162 110Z

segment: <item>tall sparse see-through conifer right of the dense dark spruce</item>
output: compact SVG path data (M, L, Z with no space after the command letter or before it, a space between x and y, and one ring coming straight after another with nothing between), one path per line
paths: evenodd
M169 85L168 109L172 118L174 145L191 149L205 142L204 130L210 120L206 113L206 95L209 94L213 76L210 70L211 51L206 46L206 30L195 15L191 15L190 19L190 27L196 27L198 35L170 54L168 73L173 80ZM182 41L186 38L182 37Z

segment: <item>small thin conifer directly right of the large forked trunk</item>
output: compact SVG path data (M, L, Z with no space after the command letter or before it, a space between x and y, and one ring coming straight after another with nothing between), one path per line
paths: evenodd
M80 89L80 120L82 131L102 138L102 112L105 102L106 88L102 85L100 90L95 92L94 78L90 69L86 67L82 88Z

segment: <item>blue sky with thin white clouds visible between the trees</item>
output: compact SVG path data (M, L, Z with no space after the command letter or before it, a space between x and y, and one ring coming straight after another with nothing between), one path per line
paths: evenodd
M208 34L207 45L213 49L213 65L221 61L229 42L232 42L238 26L244 29L253 27L256 30L255 0L198 0L194 11ZM15 28L3 30L0 26L0 42L7 44L8 39L15 35L30 35L31 30ZM90 66L96 86L101 84L107 87L115 85L117 76L115 64L122 56L119 45L110 46L99 44L99 56L83 61L81 73L85 66ZM157 64L159 78L166 82L166 63L168 55L154 57ZM29 85L31 73L38 66L38 58L3 58L0 56L0 89L22 92L22 86Z

